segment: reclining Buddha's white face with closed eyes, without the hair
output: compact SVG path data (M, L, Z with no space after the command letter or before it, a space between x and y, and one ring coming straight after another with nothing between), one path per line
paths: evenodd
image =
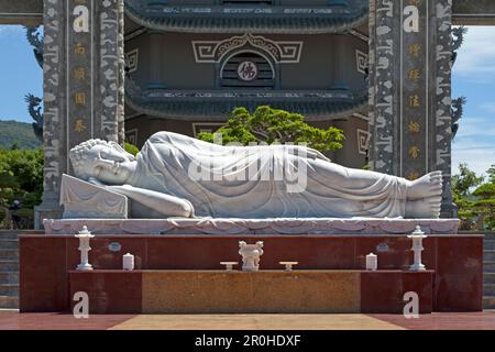
M88 167L99 180L109 185L123 185L135 169L130 155L109 145L95 145L88 152Z

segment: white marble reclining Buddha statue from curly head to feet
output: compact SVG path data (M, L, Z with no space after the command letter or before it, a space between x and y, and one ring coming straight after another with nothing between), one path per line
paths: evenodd
M132 217L410 218L440 213L442 174L417 180L346 168L295 145L222 146L158 132L136 157L117 143L74 147L77 177L122 194Z

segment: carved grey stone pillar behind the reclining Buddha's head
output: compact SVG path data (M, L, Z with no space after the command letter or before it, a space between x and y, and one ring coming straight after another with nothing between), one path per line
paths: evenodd
M69 150L123 142L123 0L44 1L44 193L35 227L59 218Z

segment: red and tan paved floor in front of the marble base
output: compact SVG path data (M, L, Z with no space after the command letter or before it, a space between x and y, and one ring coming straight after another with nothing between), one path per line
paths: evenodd
M495 330L495 311L395 315L106 315L2 314L0 330Z

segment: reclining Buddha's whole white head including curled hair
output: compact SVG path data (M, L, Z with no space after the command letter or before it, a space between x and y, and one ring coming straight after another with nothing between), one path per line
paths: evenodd
M95 177L109 185L123 185L135 169L135 157L116 142L89 140L73 147L69 158L76 176Z

